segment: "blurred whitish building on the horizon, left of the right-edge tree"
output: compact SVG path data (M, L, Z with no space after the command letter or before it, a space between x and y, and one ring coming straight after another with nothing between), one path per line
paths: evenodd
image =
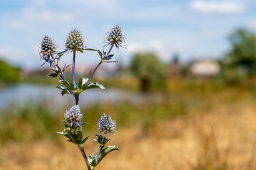
M213 77L220 74L220 65L214 60L196 60L191 62L189 72L193 76Z

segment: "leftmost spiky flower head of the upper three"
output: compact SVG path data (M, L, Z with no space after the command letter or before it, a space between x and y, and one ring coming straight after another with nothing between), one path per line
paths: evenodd
M41 59L45 60L46 62L53 62L52 57L50 57L50 54L55 56L57 53L57 44L54 40L52 40L48 35L45 35L43 37L43 40L40 45L40 56Z

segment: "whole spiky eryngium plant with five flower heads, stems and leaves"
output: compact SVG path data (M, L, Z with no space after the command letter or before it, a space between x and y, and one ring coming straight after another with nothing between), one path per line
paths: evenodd
M101 51L97 49L87 48L85 46L84 39L82 38L82 33L76 28L70 30L70 33L68 33L65 42L65 49L63 51L58 52L58 47L55 41L51 39L48 35L46 35L41 42L39 52L41 60L44 60L43 64L49 63L50 68L53 71L53 73L49 74L48 76L52 78L59 77L60 86L56 87L61 90L61 94L70 94L75 98L75 105L71 108L68 108L67 111L65 111L64 113L65 120L63 121L63 125L65 126L65 128L62 132L58 133L64 135L65 137L68 137L68 141L73 142L75 145L78 145L80 152L82 153L82 157L85 159L88 170L95 169L97 164L99 164L100 161L110 152L114 150L119 150L119 148L114 145L105 147L107 142L110 141L110 139L107 139L106 137L107 132L112 134L114 134L114 132L117 132L117 125L115 121L112 120L110 115L107 115L105 113L102 115L99 123L97 123L98 130L100 131L97 132L98 134L95 135L96 139L94 139L99 144L99 149L97 150L96 157L94 157L93 154L89 154L89 156L87 157L83 145L90 136L87 136L85 138L82 137L82 125L86 123L82 123L82 113L80 112L79 106L79 95L82 93L82 91L88 89L105 89L102 84L92 82L91 79L97 71L97 68L100 67L102 63L117 62L111 60L114 55L110 55L110 52L114 46L116 46L117 49L119 48L119 46L122 47L121 44L124 42L124 39L125 36L122 33L122 29L120 26L117 25L114 26L114 28L112 28L110 32L107 32L107 35L105 37L105 42L109 47L108 51L106 51L105 49ZM75 81L75 56L77 52L83 53L85 50L97 52L100 57L100 62L99 64L97 64L89 78L83 77L78 79L78 81ZM72 81L65 79L64 76L65 69L67 69L71 64L65 64L63 69L61 69L58 65L60 57L65 55L66 52L73 52ZM100 135L100 132L104 133L104 135Z

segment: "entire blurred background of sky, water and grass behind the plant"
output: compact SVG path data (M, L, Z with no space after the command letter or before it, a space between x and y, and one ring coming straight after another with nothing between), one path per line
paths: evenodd
M78 28L102 50L119 24L126 49L92 81L106 90L80 95L92 141L107 113L117 121L112 152L97 169L256 169L256 1L0 1L0 169L85 169L76 146L55 132L75 104L46 75L38 47L49 35L60 50ZM107 48L107 47L106 47ZM60 66L71 63L64 55ZM99 58L78 54L76 78ZM70 79L71 68L66 74Z

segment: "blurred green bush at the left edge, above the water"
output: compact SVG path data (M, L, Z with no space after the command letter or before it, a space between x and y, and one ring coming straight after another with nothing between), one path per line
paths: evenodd
M0 60L0 83L14 82L19 80L19 69Z

